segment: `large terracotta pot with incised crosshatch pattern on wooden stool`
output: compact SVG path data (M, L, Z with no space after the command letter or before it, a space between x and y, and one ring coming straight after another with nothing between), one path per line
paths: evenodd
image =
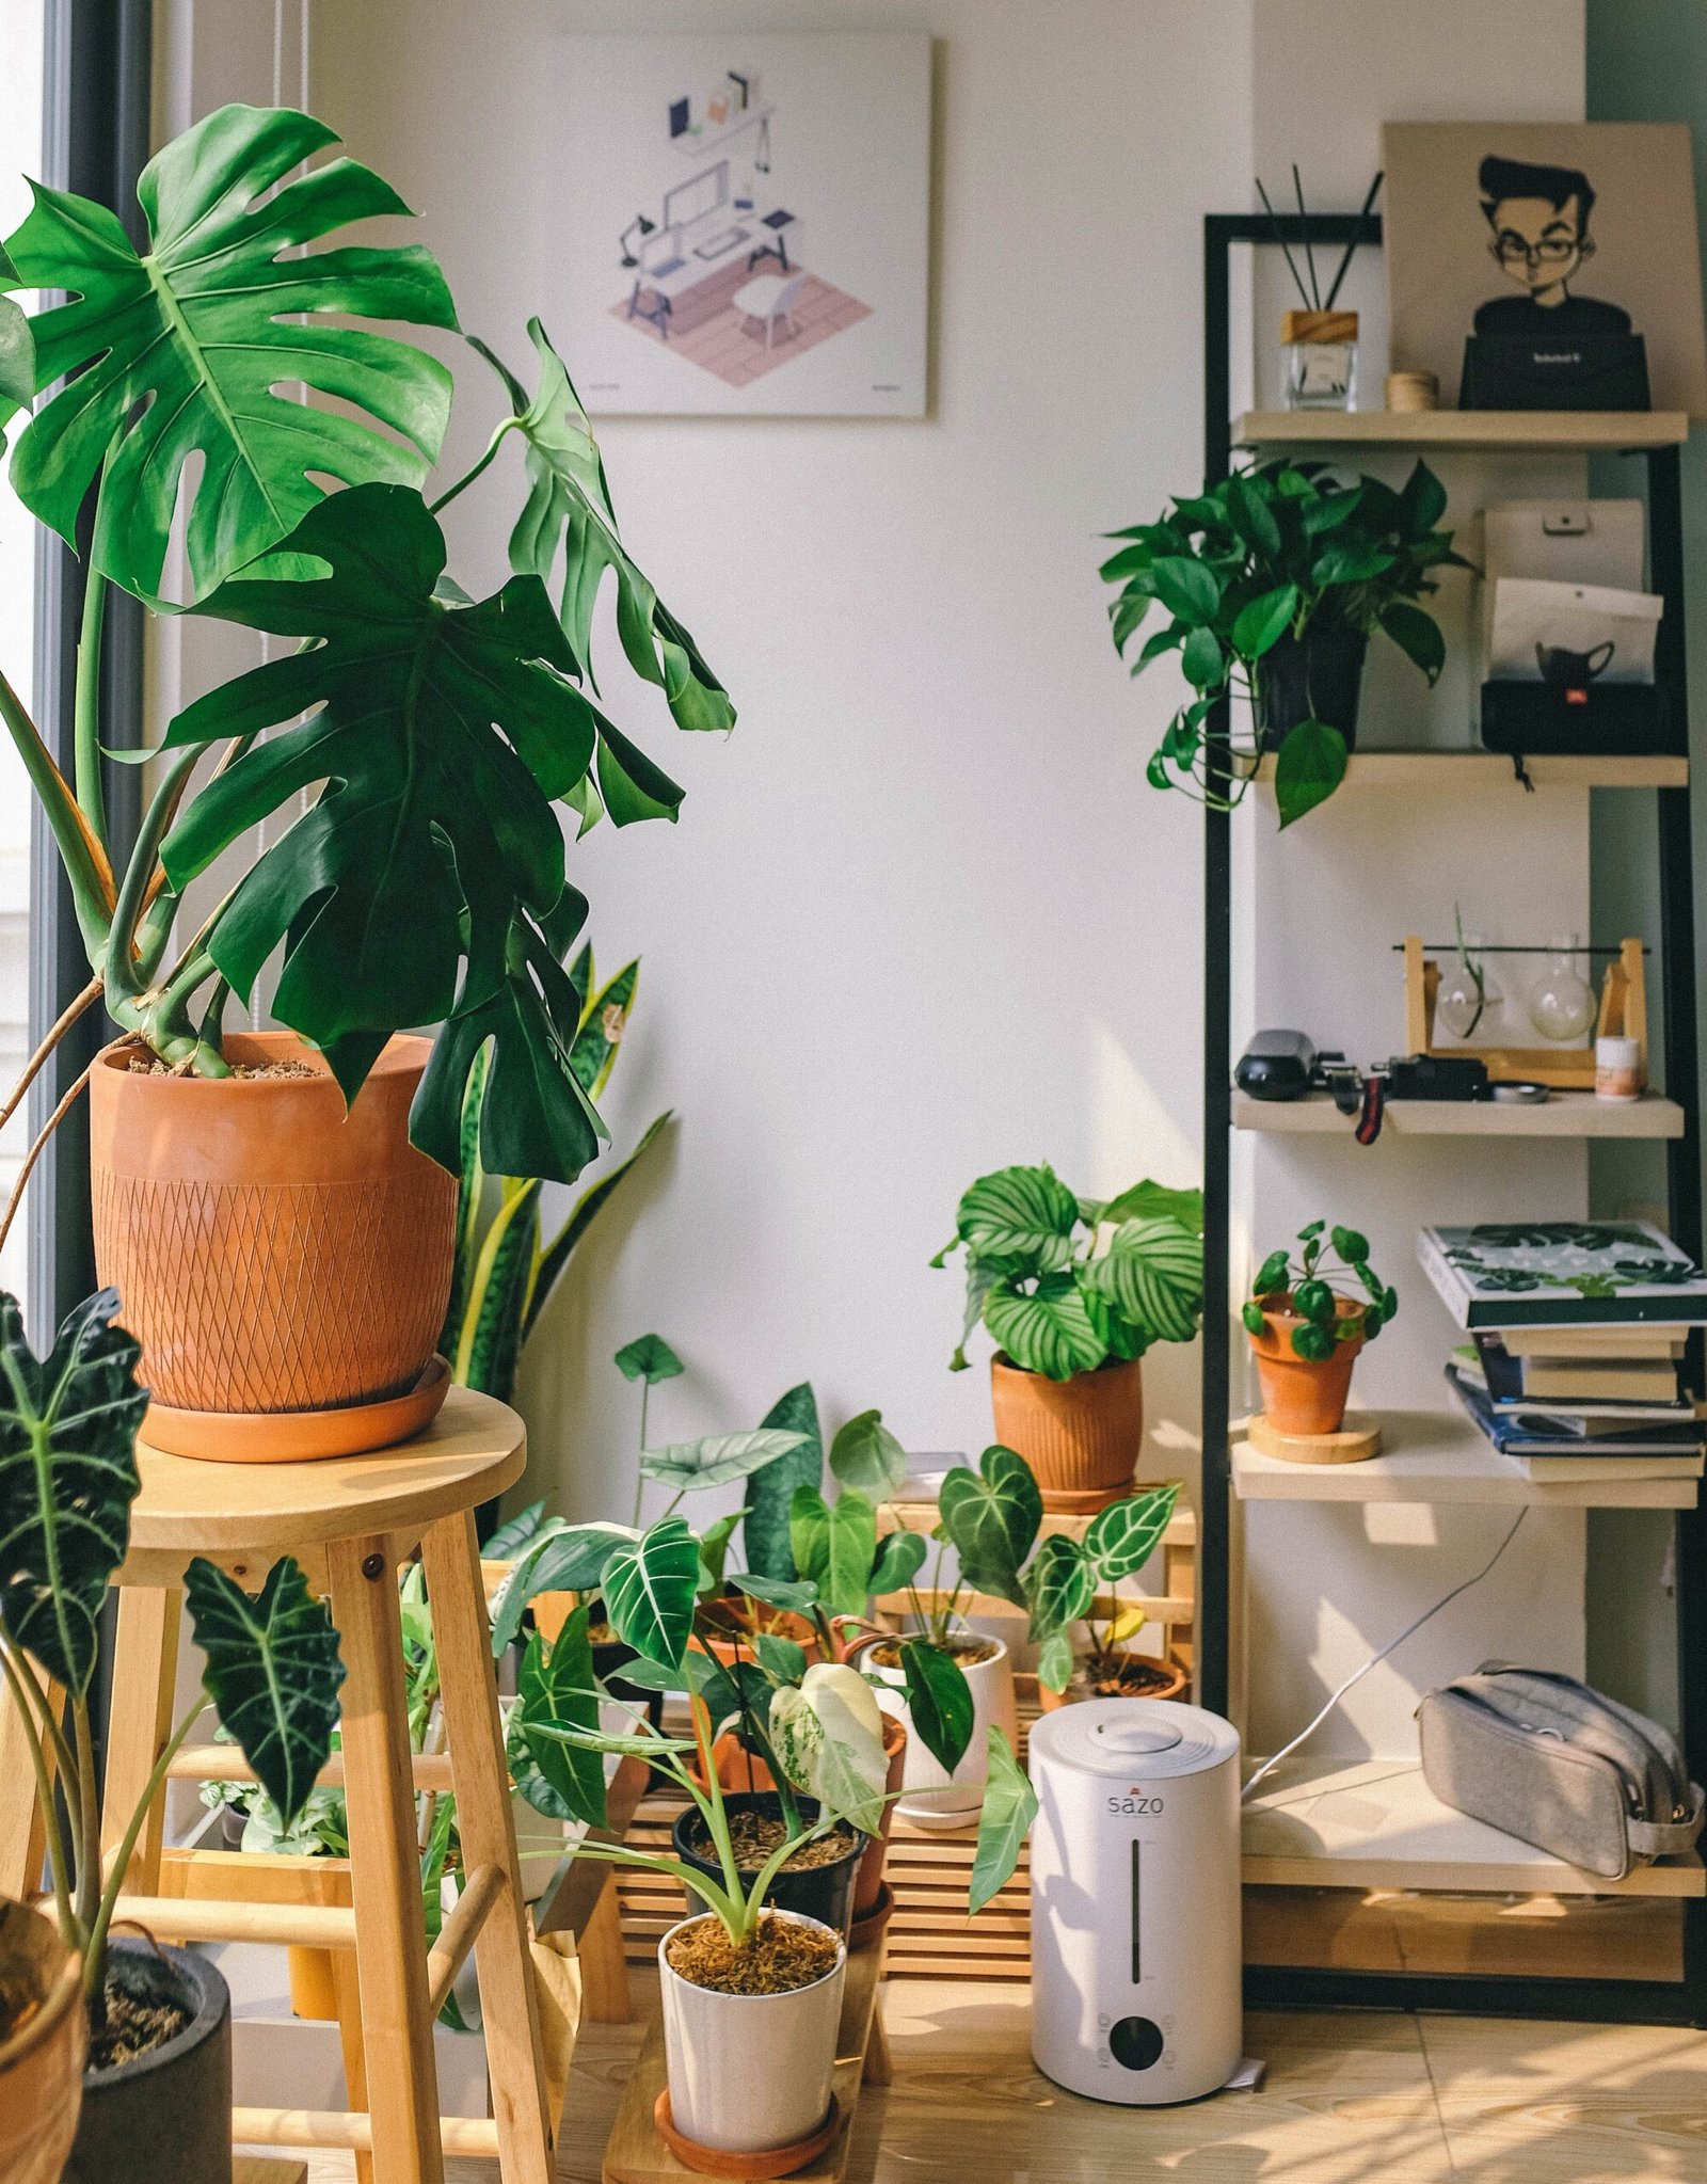
M96 1059L96 1271L157 1404L332 1411L421 1378L456 1241L456 1177L408 1142L428 1053L393 1040L347 1112L288 1031L231 1035L227 1055L301 1059L312 1077L155 1077L111 1046Z

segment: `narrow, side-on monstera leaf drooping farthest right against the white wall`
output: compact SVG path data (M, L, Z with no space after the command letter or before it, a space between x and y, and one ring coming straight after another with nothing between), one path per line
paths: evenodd
M528 341L539 358L539 387L533 400L491 349L474 343L504 378L515 408L515 430L526 441L528 502L511 533L511 568L550 581L561 550L559 612L574 655L587 670L594 605L607 570L613 572L618 638L635 675L664 690L677 727L733 727L736 708L729 703L729 692L622 546L587 413L539 319L528 321ZM600 764L600 786L605 786L602 775ZM609 793L605 802L611 802ZM616 808L611 817L622 826Z

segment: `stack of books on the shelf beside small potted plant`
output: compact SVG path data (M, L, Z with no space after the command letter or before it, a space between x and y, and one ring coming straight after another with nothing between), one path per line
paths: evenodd
M1447 1385L1526 1476L1700 1479L1707 1280L1657 1227L1489 1221L1423 1230L1417 1256L1471 1337Z

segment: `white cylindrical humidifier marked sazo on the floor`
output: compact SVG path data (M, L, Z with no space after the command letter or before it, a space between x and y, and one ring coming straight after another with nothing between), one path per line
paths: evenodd
M1159 1699L1030 1730L1030 2051L1094 2101L1216 2092L1244 2051L1238 1732Z

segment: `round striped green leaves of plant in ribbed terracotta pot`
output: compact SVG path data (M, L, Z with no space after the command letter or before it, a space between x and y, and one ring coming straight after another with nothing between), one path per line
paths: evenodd
M932 1267L960 1247L967 1306L950 1372L965 1372L980 1319L1015 1365L1050 1380L1196 1334L1201 1190L1142 1182L1113 1199L1081 1199L1054 1168L998 1168L960 1199L954 1241Z

